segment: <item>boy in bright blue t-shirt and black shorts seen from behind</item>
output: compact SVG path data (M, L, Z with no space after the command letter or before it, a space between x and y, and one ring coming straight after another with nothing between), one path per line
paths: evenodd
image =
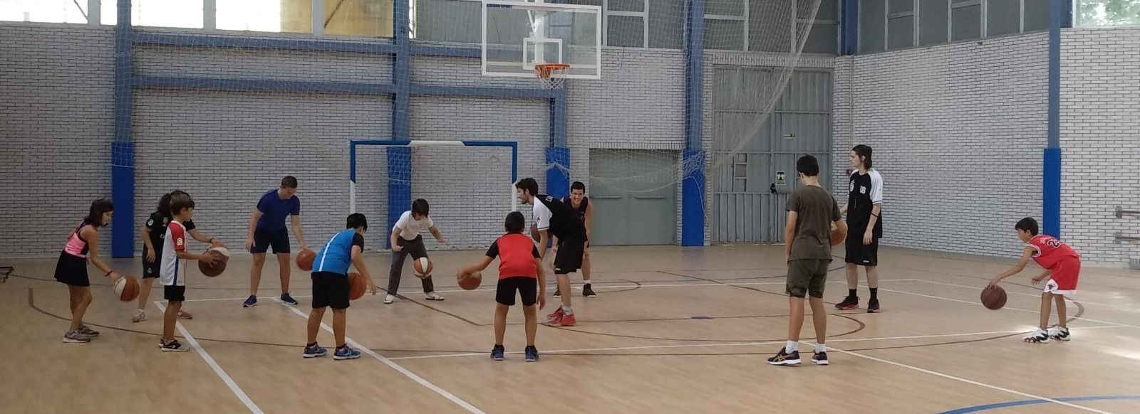
M360 276L368 283L368 290L376 295L376 283L373 283L360 254L364 251L364 233L368 230L368 221L363 214L349 215L348 230L333 235L312 260L312 312L309 313L309 341L306 342L306 358L325 356L325 348L317 345L317 331L320 320L325 317L325 307L333 308L333 337L336 339L336 353L333 359L359 358L360 351L349 348L344 341L344 325L349 308L349 266L355 265Z

